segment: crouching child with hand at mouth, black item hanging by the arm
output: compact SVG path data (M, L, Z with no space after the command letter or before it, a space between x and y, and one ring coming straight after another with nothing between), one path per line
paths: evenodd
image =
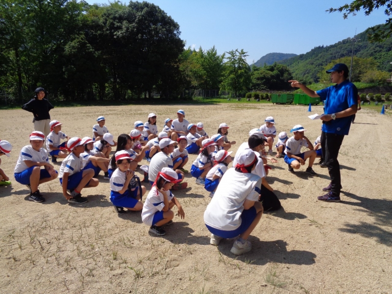
M110 201L116 207L118 214L124 213L124 208L141 211L143 209L142 196L146 193L146 187L141 185L130 187L134 172L129 169L129 164L135 159L135 155L129 155L126 150L122 150L116 152L114 156L117 168L110 177Z

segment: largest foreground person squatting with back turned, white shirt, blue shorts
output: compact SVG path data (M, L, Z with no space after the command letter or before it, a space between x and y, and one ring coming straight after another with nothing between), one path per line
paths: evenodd
M251 173L257 163L255 153L247 148L239 156L235 168L223 175L215 196L204 212L204 222L211 232L210 244L239 236L231 252L241 255L252 249L247 241L263 214L260 197L261 178Z

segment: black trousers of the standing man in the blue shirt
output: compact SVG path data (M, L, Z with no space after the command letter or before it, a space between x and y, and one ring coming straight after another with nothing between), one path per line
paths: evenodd
M340 196L341 176L338 155L344 135L321 132L321 150L331 178L331 193Z

